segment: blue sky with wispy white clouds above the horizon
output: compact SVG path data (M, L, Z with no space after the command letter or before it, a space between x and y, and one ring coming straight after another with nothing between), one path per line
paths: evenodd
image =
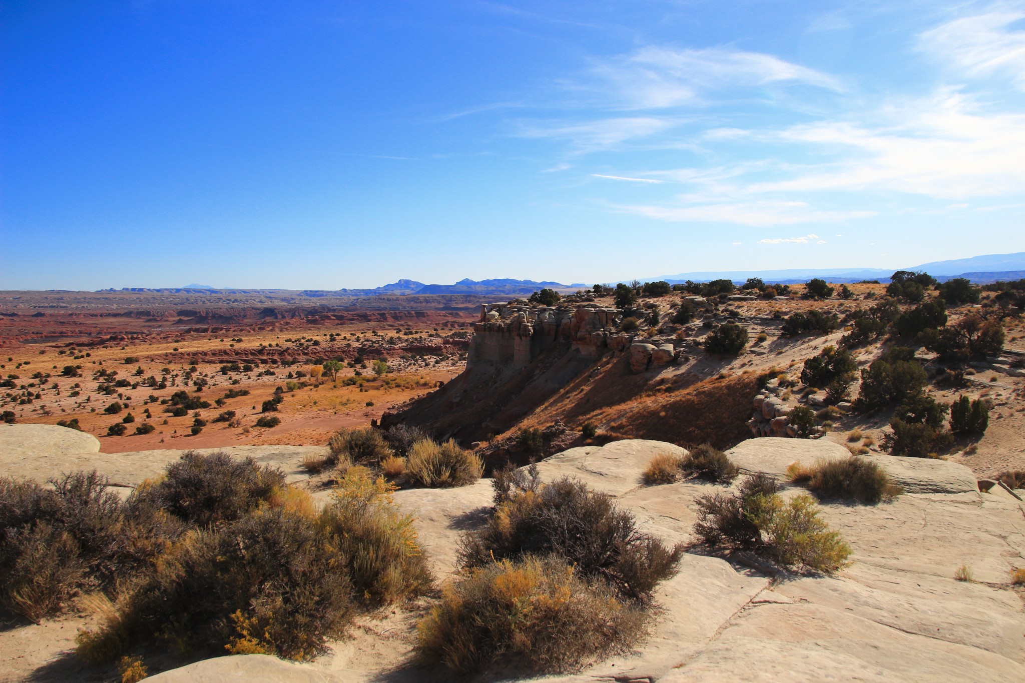
M1025 251L1025 3L0 2L0 289Z

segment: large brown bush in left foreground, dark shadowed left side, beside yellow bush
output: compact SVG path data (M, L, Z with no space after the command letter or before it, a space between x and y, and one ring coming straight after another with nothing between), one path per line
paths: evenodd
M348 623L343 562L323 526L261 510L188 537L132 595L127 615L81 632L79 648L117 656L130 639L156 637L180 653L212 647L310 659Z

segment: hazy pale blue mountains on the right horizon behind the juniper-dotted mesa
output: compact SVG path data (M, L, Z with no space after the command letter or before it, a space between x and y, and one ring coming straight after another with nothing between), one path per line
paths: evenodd
M1025 252L1017 254L986 254L972 258L950 261L932 261L920 265L897 268L897 270L924 270L937 280L968 278L974 283L985 284L997 280L1019 280L1025 271ZM789 268L785 270L722 270L679 272L674 275L649 278L648 281L664 280L670 285L686 282L708 282L710 280L731 280L742 283L748 278L761 278L767 283L796 284L812 278L821 278L831 283L856 283L862 280L888 282L894 269L886 268Z

